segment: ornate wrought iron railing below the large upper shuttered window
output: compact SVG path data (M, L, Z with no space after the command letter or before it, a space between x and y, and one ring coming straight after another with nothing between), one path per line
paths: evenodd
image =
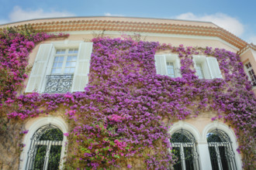
M73 75L47 75L44 93L67 93L71 91Z

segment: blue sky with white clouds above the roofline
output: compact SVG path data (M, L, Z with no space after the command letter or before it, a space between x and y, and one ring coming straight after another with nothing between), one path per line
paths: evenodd
M66 16L132 16L213 22L256 44L256 0L0 0L0 24Z

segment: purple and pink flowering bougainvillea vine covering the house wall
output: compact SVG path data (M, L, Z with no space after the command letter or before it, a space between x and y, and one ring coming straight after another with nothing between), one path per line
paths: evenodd
M2 71L9 75L1 76L3 85L22 86L33 42L51 38L45 33L36 35L39 40L29 39L34 36L1 36L1 43L6 46L1 50ZM144 165L148 169L168 169L174 158L168 150L171 146L166 122L208 111L218 113L213 120L221 118L234 128L244 166L254 162L255 98L237 54L225 49L175 47L129 38L95 38L92 42L85 92L29 93L16 97L16 85L11 86L12 93L10 89L1 89L2 109L12 107L7 114L9 119L24 120L65 110L72 127L70 133L64 134L69 147L67 168ZM157 51L178 53L182 78L156 74ZM224 78L199 80L192 63L192 56L198 54L215 56ZM20 64L12 66L10 63L16 60Z

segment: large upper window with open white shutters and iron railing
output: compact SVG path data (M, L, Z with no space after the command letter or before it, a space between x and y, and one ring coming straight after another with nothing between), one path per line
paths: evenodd
M92 42L42 44L29 76L26 93L83 91L88 83Z

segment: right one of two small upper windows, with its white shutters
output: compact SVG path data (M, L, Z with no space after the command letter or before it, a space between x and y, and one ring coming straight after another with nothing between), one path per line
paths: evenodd
M194 56L193 62L199 79L222 78L219 63L215 57Z

